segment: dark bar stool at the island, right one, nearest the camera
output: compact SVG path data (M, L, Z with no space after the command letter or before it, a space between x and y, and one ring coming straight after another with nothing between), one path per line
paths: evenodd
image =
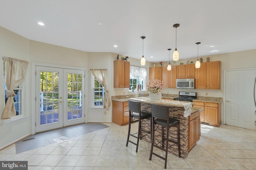
M151 129L151 149L150 149L150 157L149 160L152 158L152 154L158 156L159 158L162 158L165 160L164 164L164 169L166 169L166 164L167 164L167 155L168 155L168 144L169 141L173 143L177 143L178 145L178 154L180 157L180 121L178 119L174 119L169 117L169 107L168 106L160 106L160 105L154 105L151 104L151 113L152 113L152 129ZM158 125L162 127L162 147L158 146L158 144L154 144L154 131L158 128L155 129L155 125ZM164 127L166 127L166 138L164 138ZM178 132L178 141L174 141L172 139L169 139L169 129L170 127L177 127L177 132ZM166 148L164 149L164 140L166 140ZM165 151L165 158L156 154L153 152L153 147L156 147L158 149L164 150Z

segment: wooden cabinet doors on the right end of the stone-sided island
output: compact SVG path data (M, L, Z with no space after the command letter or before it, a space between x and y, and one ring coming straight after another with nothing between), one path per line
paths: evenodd
M190 151L200 139L200 112L192 113L188 119L188 151Z

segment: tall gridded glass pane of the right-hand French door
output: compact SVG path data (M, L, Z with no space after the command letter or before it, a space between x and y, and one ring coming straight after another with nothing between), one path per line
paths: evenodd
M82 118L82 74L68 76L68 120Z

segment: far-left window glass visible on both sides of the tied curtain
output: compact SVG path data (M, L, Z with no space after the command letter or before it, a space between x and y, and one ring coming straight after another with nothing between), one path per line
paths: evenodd
M21 86L18 86L18 88L15 88L14 89L14 93L16 94L13 98L14 100L14 106L15 106L15 109L16 109L16 115L21 115L21 104L22 104L22 88L20 88ZM4 84L4 97L5 97L5 103L7 101L7 96L6 96L6 93L7 93L7 88Z

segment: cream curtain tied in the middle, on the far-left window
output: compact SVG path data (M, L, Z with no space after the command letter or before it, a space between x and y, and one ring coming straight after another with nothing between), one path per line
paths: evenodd
M20 86L26 77L28 61L3 57L4 60L4 83L7 88L6 101L1 119L10 119L16 115L14 107L14 89Z

